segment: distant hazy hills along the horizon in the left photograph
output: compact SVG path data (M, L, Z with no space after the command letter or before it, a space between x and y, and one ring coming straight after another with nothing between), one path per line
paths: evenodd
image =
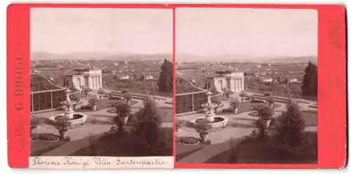
M132 53L117 53L108 54L100 52L77 52L65 55L54 54L49 52L31 52L31 60L62 60L62 59L108 59L108 60L133 60L133 59L145 59L145 60L161 60L168 59L172 60L173 56L171 54L157 54L157 55L138 55Z

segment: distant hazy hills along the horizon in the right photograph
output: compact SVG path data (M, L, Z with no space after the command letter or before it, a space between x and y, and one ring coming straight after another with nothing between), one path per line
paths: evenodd
M234 62L317 62L317 56L306 57L253 57L249 55L217 55L217 56L197 56L187 54L176 54L177 62L190 62L190 61L234 61Z

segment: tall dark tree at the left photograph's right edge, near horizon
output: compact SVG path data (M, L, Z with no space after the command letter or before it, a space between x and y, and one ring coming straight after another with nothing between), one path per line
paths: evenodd
M164 59L159 73L159 91L173 92L173 64L167 59Z

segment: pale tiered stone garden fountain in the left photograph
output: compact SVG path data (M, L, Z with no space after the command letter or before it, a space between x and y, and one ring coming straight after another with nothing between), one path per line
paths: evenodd
M86 118L88 117L87 115L83 114L83 113L75 113L73 110L73 106L74 104L77 103L77 101L71 101L71 99L69 99L70 94L70 90L67 88L65 93L66 93L66 101L62 101L61 105L63 106L63 108L65 108L65 113L59 114L59 115L55 115L53 117L50 118L51 122L53 122L53 124L55 124L56 120L59 117L67 117L68 118L68 122L71 124L71 126L77 125L77 124L84 124L86 122Z

